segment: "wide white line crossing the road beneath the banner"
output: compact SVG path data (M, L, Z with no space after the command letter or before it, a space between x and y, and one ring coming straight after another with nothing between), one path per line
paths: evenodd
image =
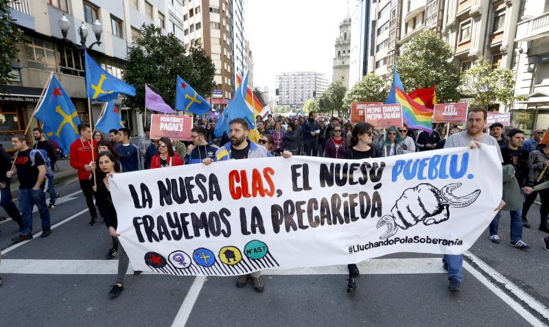
M19 244L16 244L19 245ZM13 245L13 246L16 246ZM12 249L11 249L12 250ZM8 250L5 252L11 251ZM5 253L4 252L4 253ZM444 274L441 258L369 259L357 264L360 274ZM51 260L3 259L2 274L55 274L55 275L113 275L117 274L118 261L113 260ZM143 274L155 274L143 271ZM272 276L291 275L347 275L345 265L303 267L284 270L262 270Z

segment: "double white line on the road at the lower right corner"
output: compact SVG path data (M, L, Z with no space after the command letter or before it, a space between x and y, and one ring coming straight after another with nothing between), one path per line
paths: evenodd
M467 251L463 254L464 256L467 256L467 258L471 259L476 265L478 265L478 268L482 271L484 271L485 274L489 275L491 278L493 278L496 282L501 283L505 289L508 291L511 291L514 295L517 296L520 300L522 300L526 305L528 305L530 308L532 308L534 311L542 315L544 318L549 320L549 310L532 298L530 295L522 291L517 285L513 284L511 280L508 280L505 278L502 274L500 274L498 271L490 267L487 263L484 263L478 256L475 256L471 252ZM540 322L536 317L534 317L531 313L529 313L519 302L513 300L509 295L504 293L497 285L493 284L493 282L489 281L484 275L478 271L478 269L475 269L469 263L464 262L463 267L467 269L473 276L475 276L484 286L488 287L495 295L498 295L499 298L504 300L506 304L509 304L513 310L517 311L519 315L521 315L524 319L526 319L530 324L533 324L533 326L546 326L546 324L543 324Z

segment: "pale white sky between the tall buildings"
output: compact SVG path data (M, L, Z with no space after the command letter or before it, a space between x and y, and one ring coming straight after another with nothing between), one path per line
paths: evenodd
M347 0L246 0L244 15L255 87L269 86L274 97L274 76L283 71L318 71L331 82Z

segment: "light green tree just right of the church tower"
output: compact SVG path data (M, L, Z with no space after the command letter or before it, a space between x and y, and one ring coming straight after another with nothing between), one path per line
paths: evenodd
M351 110L352 102L384 102L386 99L387 90L383 81L374 74L368 74L362 76L360 82L347 90L343 98L343 108Z

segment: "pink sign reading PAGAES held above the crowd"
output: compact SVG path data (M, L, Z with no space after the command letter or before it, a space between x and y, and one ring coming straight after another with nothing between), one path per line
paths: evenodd
M158 140L168 137L172 140L191 141L193 117L174 114L152 114L150 119L150 138Z

